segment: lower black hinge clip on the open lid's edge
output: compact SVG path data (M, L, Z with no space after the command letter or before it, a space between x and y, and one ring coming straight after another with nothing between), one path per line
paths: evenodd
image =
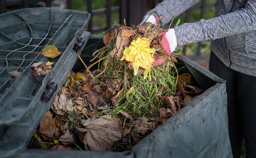
M58 84L56 82L51 83L50 81L48 81L44 89L44 94L41 96L41 100L44 102L48 102L52 98L57 88L58 88Z

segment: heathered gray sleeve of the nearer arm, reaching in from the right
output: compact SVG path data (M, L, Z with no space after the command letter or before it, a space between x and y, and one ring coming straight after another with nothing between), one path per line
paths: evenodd
M195 23L184 23L174 28L178 46L204 40L238 35L256 30L256 0L248 0L245 8Z

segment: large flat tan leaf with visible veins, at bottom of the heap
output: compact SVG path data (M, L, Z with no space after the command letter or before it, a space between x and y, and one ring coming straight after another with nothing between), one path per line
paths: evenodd
M78 130L87 132L84 135L84 146L86 150L107 151L111 145L121 139L122 134L118 131L119 127L116 122L109 121L110 115L98 118L87 125L86 128Z

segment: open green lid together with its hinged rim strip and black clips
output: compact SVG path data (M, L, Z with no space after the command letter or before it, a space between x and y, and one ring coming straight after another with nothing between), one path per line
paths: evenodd
M26 150L31 135L50 109L91 33L90 14L54 8L21 9L0 15L0 157ZM40 52L53 45L61 55ZM31 65L52 62L46 76ZM15 79L8 72L21 72Z

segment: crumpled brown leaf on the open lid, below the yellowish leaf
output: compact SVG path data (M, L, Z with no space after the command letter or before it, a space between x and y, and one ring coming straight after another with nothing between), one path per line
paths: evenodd
M31 65L33 69L32 75L45 76L48 72L52 71L52 65L47 65L46 62L38 62Z

